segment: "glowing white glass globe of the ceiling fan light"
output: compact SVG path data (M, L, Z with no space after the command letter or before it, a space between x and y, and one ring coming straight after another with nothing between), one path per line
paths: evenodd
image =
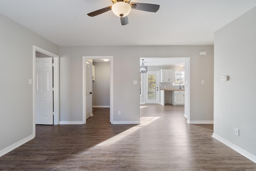
M112 5L112 12L118 17L126 17L131 12L131 6L126 2L116 2Z

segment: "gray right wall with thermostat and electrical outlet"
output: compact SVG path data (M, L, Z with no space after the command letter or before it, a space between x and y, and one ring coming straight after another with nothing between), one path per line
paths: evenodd
M256 7L214 36L214 134L256 156Z

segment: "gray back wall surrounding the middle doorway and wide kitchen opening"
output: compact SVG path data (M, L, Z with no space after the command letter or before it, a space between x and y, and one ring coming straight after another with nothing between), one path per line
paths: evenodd
M90 46L60 47L61 121L82 121L82 56L113 56L114 121L140 120L141 57L190 57L190 120L213 120L213 46Z

